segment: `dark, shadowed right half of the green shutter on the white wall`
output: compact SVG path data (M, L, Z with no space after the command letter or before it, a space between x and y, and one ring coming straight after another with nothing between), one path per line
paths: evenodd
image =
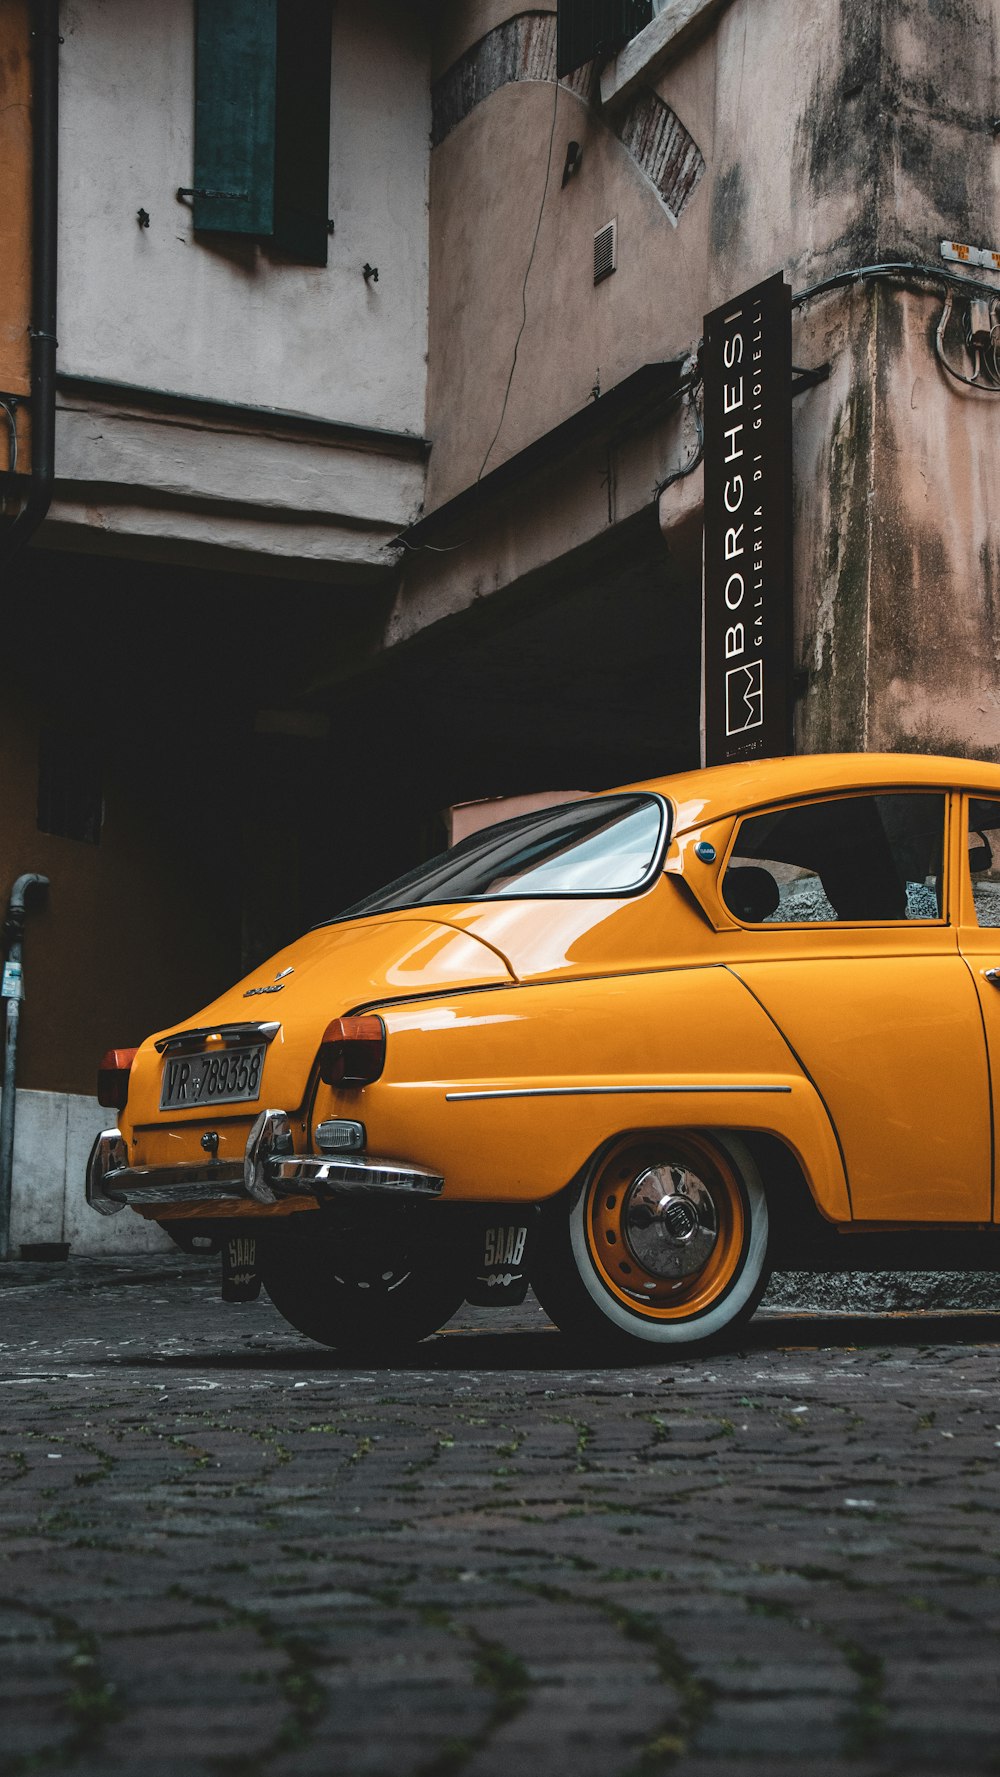
M281 0L274 240L302 265L327 263L330 30L330 0Z

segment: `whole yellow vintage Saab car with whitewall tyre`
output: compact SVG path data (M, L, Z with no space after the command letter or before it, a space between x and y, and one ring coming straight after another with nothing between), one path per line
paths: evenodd
M993 1265L998 988L998 766L659 778L474 833L108 1052L87 1196L337 1347L528 1281L588 1342L698 1347L774 1265Z

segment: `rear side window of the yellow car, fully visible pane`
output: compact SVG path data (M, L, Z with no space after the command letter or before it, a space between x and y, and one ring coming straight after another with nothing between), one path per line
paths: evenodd
M940 919L943 837L938 793L751 814L735 835L723 901L750 926Z

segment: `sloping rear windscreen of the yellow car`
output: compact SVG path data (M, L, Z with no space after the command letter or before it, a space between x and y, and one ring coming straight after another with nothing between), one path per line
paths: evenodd
M632 894L650 880L666 826L666 805L655 796L600 796L522 814L471 833L337 919L444 901Z

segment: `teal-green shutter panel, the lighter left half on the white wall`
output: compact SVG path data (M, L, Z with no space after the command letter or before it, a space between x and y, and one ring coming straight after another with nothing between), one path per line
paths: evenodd
M277 0L195 0L194 226L274 233Z

